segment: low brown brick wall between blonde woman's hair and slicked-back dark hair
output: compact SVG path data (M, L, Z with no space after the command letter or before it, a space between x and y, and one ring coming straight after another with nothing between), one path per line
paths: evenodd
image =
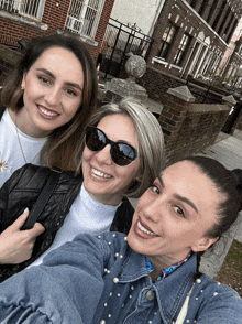
M164 132L167 165L212 144L231 109L228 104L191 104L167 93L163 100L158 121Z

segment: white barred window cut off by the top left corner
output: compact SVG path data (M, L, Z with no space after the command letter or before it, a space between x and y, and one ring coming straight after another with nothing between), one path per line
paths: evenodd
M0 9L41 20L44 3L45 0L0 0Z

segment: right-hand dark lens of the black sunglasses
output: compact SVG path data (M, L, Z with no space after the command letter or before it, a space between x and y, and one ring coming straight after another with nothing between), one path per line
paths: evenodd
M135 160L136 154L132 147L124 143L114 143L111 150L112 161L118 165L128 165Z

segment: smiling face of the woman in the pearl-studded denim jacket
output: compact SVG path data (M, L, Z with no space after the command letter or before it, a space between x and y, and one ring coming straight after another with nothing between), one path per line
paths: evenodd
M206 237L224 199L210 179L189 161L168 166L140 198L128 242L160 270L204 251L218 238Z

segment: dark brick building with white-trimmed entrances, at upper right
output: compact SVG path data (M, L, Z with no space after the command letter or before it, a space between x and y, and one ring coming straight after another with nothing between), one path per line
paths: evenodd
M241 0L166 0L148 64L179 77L211 78L241 15Z

